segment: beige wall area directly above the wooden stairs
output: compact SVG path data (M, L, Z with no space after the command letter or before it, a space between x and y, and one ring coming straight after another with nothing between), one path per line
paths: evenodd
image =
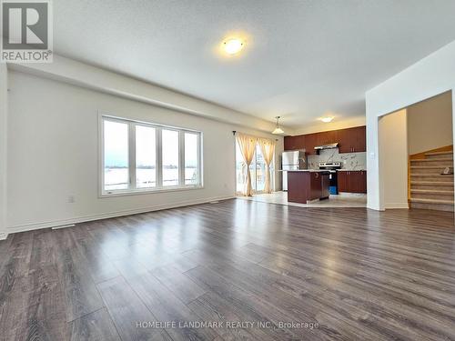
M452 95L450 92L408 107L410 155L452 144Z

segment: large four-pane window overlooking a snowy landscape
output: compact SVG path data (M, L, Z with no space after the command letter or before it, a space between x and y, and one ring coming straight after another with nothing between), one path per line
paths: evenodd
M201 133L102 116L101 193L202 186Z

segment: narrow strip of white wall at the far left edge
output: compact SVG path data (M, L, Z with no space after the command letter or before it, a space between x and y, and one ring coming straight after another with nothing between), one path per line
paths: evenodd
M6 238L6 118L7 68L0 64L0 240Z

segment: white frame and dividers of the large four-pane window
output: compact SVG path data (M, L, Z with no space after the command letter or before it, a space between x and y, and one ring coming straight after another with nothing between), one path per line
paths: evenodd
M126 189L105 189L105 141L104 141L104 122L118 122L128 125L128 174L129 183ZM148 126L156 129L156 186L149 188L136 188L136 125ZM163 186L163 155L162 155L162 131L174 130L178 132L178 185ZM131 118L118 117L100 113L98 115L99 131L99 170L98 170L98 196L131 196L144 195L157 192L182 191L187 189L200 189L204 187L203 157L202 157L202 132L187 128L180 128L169 125L158 125ZM185 185L185 133L197 135L197 174L198 183Z

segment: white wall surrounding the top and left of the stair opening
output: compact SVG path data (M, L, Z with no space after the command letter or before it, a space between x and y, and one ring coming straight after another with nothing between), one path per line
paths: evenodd
M434 95L454 90L454 61L455 41L366 93L369 208L385 209L379 164L387 155L381 155L379 152L379 117ZM454 121L452 119L452 122Z

